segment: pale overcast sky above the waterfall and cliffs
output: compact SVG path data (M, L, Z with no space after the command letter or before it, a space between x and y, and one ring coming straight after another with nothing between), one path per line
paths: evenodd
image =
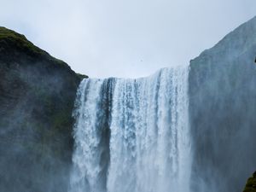
M92 78L188 65L256 15L255 0L0 0L0 26Z

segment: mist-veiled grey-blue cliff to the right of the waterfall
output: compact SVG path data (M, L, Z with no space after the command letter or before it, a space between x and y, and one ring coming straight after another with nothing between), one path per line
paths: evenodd
M256 167L256 18L190 61L195 191L242 191Z

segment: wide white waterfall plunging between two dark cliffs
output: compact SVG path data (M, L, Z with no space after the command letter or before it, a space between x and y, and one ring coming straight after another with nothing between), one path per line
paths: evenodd
M73 116L70 192L189 192L188 67L84 79Z

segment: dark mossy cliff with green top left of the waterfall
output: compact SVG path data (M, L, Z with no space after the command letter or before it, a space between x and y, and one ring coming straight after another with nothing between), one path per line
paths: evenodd
M0 191L67 191L73 102L82 78L0 27Z

